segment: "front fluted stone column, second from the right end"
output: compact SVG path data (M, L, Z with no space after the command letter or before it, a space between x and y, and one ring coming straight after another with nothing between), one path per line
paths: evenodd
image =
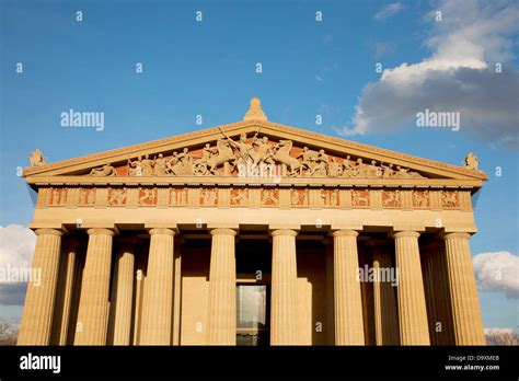
M401 345L429 345L424 280L416 231L393 234L396 250L399 325Z

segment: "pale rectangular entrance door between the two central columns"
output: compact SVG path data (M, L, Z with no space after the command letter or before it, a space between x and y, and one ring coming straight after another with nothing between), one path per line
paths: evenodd
M267 285L237 285L237 345L268 345L269 305Z

